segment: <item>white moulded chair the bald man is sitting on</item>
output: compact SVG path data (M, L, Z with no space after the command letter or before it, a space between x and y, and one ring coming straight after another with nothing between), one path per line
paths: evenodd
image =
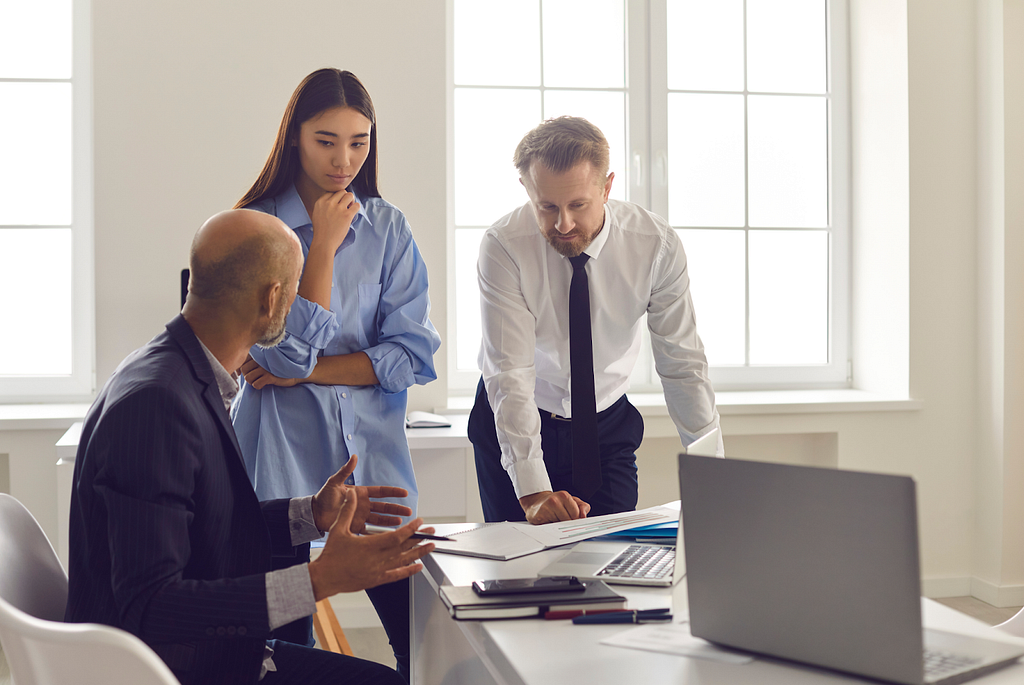
M144 642L65 624L68 576L20 502L0 494L0 643L14 685L179 685Z

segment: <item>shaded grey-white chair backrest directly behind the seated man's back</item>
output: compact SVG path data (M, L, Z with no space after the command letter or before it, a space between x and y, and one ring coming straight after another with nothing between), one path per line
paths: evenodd
M68 575L28 509L0 493L0 598L44 620L63 620Z

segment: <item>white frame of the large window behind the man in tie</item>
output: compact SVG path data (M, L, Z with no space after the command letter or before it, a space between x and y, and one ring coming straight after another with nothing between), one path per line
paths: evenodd
M828 164L828 361L806 366L735 366L711 367L717 390L788 390L849 388L853 385L851 358L851 157L850 157L850 52L848 0L824 0L827 25L827 164ZM668 184L668 36L667 0L625 0L626 3L626 97L627 159L622 170L627 183L627 200L669 216ZM449 53L449 256L455 259L455 78L454 78L454 0L447 0ZM744 2L745 17L745 2ZM654 35L655 28L660 30ZM637 47L639 46L639 47ZM744 59L745 65L745 59ZM542 91L543 92L543 91ZM748 91L743 90L744 102ZM744 104L745 112L745 104ZM745 114L744 114L745 117ZM744 145L745 146L745 145ZM749 192L744 185L744 194ZM507 208L512 209L512 208ZM497 216L495 217L498 218ZM733 228L735 229L735 228ZM752 230L743 227L749 236ZM754 228L753 230L757 230ZM820 230L820 229L814 229ZM685 248L685 244L684 244ZM744 271L749 271L749 261ZM458 368L458 310L455 302L455 270L449 268L449 395L465 396L475 392L478 371ZM750 297L746 297L748 311ZM698 330L699 330L699 311ZM750 314L748 353L750 346ZM644 341L632 375L630 392L662 392L650 352L649 332L643 326Z

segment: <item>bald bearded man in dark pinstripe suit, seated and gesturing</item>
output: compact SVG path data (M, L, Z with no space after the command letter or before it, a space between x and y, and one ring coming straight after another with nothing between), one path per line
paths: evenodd
M86 416L72 496L67 620L121 628L193 683L401 683L385 667L271 640L314 602L418 572L432 549L412 512L355 487L355 458L311 498L260 503L227 415L229 371L285 335L302 251L273 216L223 212L197 233L187 301L126 358ZM271 571L271 555L330 529L323 554Z

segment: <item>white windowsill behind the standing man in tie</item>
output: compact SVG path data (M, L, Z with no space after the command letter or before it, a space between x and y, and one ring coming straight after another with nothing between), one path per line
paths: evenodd
M629 393L630 401L647 418L667 417L665 396L657 392ZM924 403L909 397L894 397L864 390L762 390L718 392L718 412L723 416L755 414L833 414L846 412L911 412ZM449 405L438 414L465 414L473 406L472 397L449 397Z

